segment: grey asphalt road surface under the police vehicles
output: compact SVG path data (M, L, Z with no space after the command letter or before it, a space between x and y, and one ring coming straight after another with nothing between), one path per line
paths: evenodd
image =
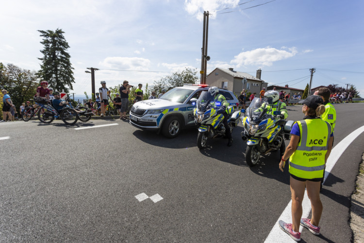
M364 104L335 107L334 146L364 125ZM290 201L288 169L278 152L248 167L241 131L200 151L194 129L166 139L120 120L0 123L0 242L264 242ZM350 242L363 152L361 134L325 182L322 235L304 229L302 242Z

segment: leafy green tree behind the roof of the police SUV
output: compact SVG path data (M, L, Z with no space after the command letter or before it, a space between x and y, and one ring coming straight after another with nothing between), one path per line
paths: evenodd
M163 88L171 89L181 87L183 84L197 84L199 77L196 69L185 68L182 72L174 72L153 83L152 90L161 93Z

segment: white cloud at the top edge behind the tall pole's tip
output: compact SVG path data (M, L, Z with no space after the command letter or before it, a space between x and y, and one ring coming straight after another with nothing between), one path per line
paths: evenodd
M185 0L184 10L190 15L194 15L199 19L203 20L203 11L209 11L214 13L216 10L220 10L227 7L236 6L239 0ZM216 15L211 15L211 18L215 18Z

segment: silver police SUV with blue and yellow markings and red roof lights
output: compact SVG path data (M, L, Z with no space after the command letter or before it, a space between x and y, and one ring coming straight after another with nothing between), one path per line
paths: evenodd
M195 126L196 99L208 89L207 85L183 85L169 90L160 99L137 102L130 110L130 124L143 130L162 131L165 137L175 138L182 128ZM219 88L219 93L234 108L239 104L232 91Z

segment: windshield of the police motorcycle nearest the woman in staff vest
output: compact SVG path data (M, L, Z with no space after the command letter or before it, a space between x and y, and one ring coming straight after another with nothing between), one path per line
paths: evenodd
M265 116L272 109L273 99L272 98L258 98L255 97L247 109L246 114L249 116L250 121L258 123L265 119ZM270 110L267 110L267 106Z

